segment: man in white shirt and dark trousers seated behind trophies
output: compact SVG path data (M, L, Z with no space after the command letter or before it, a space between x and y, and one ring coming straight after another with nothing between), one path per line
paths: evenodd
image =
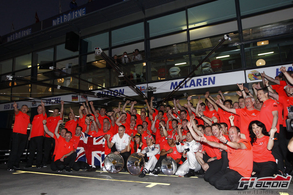
M116 152L114 154L120 154L124 160L124 170L127 171L127 159L130 155L130 152L127 152L127 145L129 142L129 135L125 133L125 126L120 125L118 128L118 134L115 134L110 142L111 135L107 135L107 145L108 148L112 148L115 144Z

